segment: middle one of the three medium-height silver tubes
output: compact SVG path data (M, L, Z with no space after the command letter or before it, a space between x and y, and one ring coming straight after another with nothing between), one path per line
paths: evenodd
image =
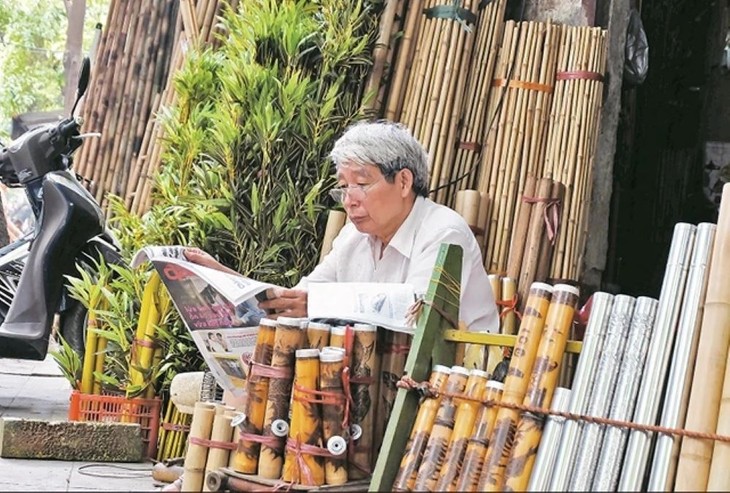
M606 340L603 343L603 351L598 361L596 382L593 385L593 392L586 413L589 416L605 418L608 417L611 410L618 371L626 348L626 339L629 335L635 304L636 298L625 294L619 294L613 300L611 317L608 319ZM578 440L575 466L568 483L568 491L589 491L591 489L605 428L604 425L597 423L583 424L580 439Z

